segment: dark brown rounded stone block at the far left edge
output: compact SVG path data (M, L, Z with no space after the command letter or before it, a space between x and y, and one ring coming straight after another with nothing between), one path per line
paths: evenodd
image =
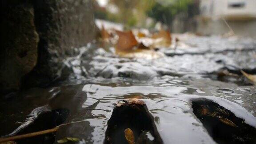
M39 37L32 4L0 3L0 93L6 93L19 90L20 79L36 66Z

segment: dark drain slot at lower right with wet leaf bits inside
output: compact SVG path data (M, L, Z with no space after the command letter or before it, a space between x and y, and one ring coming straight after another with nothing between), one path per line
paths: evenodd
M193 100L193 112L218 144L255 144L256 128L211 100Z

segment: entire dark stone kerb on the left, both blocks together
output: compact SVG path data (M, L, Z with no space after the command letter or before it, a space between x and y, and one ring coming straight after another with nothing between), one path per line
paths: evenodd
M97 33L92 0L1 0L0 9L0 93L61 77L63 61Z

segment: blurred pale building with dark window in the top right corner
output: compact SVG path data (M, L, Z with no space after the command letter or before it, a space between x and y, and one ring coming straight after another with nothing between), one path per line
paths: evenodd
M256 0L200 0L198 32L256 37Z

